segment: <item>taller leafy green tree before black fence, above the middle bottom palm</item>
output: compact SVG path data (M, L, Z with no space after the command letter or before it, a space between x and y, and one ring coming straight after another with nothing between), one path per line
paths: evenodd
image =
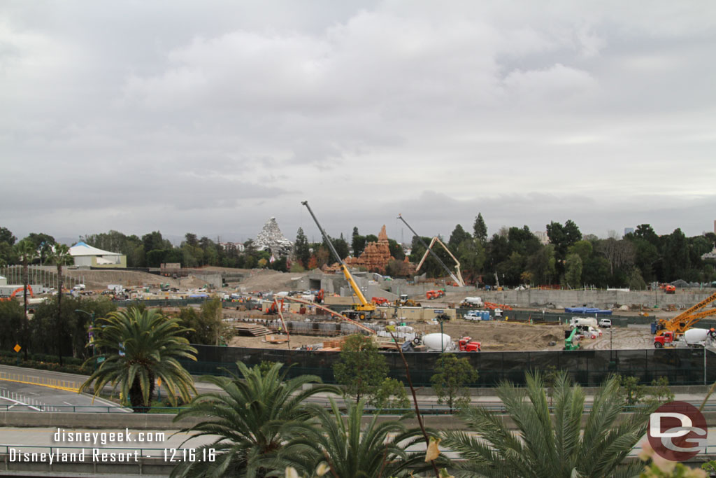
M372 396L387 373L385 358L365 335L349 335L341 346L340 358L333 365L336 383L344 386L345 395L354 398L356 403L363 396Z

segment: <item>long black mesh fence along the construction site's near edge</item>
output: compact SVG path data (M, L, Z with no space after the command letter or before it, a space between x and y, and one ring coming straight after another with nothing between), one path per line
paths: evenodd
M194 345L196 362L182 364L193 375L226 375L236 373L236 362L257 365L262 361L293 365L289 377L311 374L325 383L334 383L333 364L339 352L309 350L273 350L257 348L214 347ZM389 376L407 384L405 366L399 353L384 353L390 368ZM599 386L611 373L635 376L640 383L650 384L665 376L671 385L702 385L716 381L716 354L703 348L644 350L569 350L545 352L483 352L456 353L468 358L478 371L472 387L493 387L508 380L518 385L525 381L526 371L569 371L571 378L582 386ZM405 353L410 376L415 386L430 386L439 353ZM706 376L704 374L706 370Z

